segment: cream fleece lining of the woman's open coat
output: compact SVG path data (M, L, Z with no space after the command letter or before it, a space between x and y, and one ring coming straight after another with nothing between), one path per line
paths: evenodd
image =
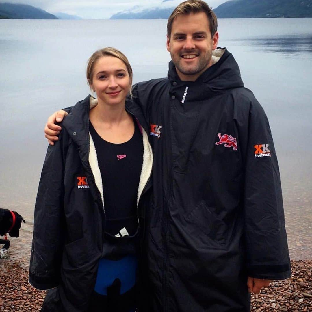
M94 108L96 105L97 105L97 99L91 96L90 97L90 110ZM143 140L143 163L142 163L142 170L141 170L139 188L138 188L137 206L139 205L140 196L142 195L144 186L149 180L149 177L152 172L152 166L153 166L153 152L149 144L149 137L142 127L141 129L142 129L142 140ZM89 138L90 138L89 163L90 163L90 167L93 172L93 175L94 175L95 184L101 194L103 209L105 212L102 177L100 173L95 145L94 145L90 132L89 132Z

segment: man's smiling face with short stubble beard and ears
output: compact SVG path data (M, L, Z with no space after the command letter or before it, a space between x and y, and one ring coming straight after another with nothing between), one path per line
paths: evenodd
M195 81L212 65L212 50L217 48L219 34L211 38L205 12L178 15L167 36L167 50L181 80Z

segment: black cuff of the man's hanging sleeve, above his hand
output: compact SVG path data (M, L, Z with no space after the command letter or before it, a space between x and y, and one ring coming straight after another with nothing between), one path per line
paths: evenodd
M285 280L291 276L290 263L280 265L247 265L247 276L264 280Z

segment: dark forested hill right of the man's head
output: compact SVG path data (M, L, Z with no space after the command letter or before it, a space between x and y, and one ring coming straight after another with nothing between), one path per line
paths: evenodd
M312 0L232 0L213 11L218 18L312 17Z

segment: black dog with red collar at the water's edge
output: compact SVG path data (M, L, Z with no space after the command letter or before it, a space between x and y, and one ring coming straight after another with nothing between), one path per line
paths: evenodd
M0 236L5 235L5 239L0 239L0 244L4 244L5 249L10 246L10 241L7 240L6 234L9 233L11 237L19 236L19 229L24 218L15 211L0 208Z

